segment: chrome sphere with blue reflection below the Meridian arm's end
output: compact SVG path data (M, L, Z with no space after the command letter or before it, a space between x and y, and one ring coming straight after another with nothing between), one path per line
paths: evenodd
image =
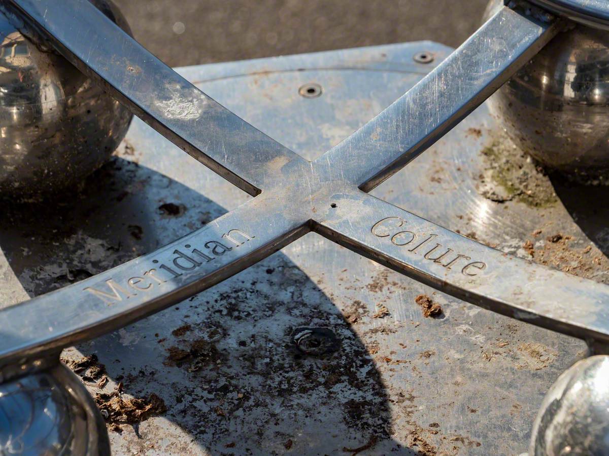
M0 384L0 454L109 455L104 419L62 364Z

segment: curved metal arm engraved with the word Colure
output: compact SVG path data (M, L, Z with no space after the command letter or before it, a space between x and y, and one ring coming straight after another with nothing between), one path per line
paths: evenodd
M388 202L336 195L326 238L492 311L580 339L609 341L609 286L484 246Z

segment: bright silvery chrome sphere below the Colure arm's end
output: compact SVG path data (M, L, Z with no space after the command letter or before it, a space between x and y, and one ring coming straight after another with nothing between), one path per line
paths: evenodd
M609 356L591 356L566 370L541 404L529 456L609 454Z

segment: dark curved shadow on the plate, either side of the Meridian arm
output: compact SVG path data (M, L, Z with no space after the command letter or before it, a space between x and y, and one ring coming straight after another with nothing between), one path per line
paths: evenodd
M138 151L123 145L125 153L133 159L128 154ZM91 176L76 198L4 209L0 249L30 297L124 263L226 212L121 157ZM292 334L299 326L331 331L339 344L331 353L303 353ZM184 439L191 449L196 443L211 454L283 452L292 441L307 454L376 441L378 451L418 454L390 437L388 394L362 340L331 299L280 252L63 356L74 361L91 354L105 365L104 392L120 382L125 398L155 393L167 407L149 418L155 421L151 427L149 421L122 424L122 433L135 435L128 439L133 447L118 452L167 438ZM102 390L97 380L85 380L91 392Z

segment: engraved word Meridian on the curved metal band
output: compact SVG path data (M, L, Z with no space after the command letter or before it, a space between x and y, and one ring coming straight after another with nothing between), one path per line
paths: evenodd
M178 278L185 272L195 271L195 269L200 268L203 264L222 257L222 255L242 246L253 238L255 236L250 236L242 230L231 229L222 235L222 239L226 240L224 244L214 240L206 241L202 243L202 246L198 247L184 244L184 247L188 249L186 253L174 249L171 257L166 260L152 260L152 263L157 265L155 268L150 268L143 272L143 274L133 277L127 275L125 283L122 285L113 278L108 278L104 281L106 285L105 289L96 289L88 286L83 291L90 292L107 304L113 304L123 299L129 299L139 292L153 291L153 289L163 286L167 281Z

